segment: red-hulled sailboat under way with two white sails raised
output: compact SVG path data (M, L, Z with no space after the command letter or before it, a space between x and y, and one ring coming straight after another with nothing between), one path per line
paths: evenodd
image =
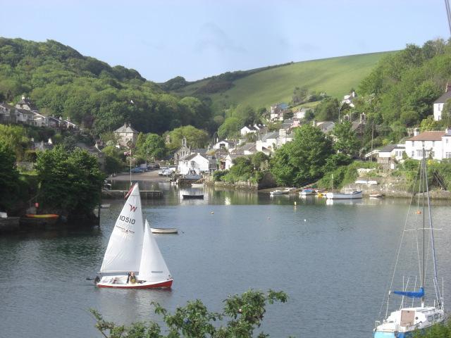
M98 287L151 289L172 285L173 278L147 220L143 225L137 183L130 189L116 220L100 274Z

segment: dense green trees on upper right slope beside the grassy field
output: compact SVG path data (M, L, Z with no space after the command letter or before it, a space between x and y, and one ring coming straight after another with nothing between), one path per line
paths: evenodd
M442 39L385 56L359 86L356 110L369 120L419 125L451 78L451 45Z

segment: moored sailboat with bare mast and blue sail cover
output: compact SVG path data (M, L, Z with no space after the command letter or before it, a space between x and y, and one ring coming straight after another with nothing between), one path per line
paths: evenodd
M424 154L424 150L423 150ZM382 322L376 321L376 327L373 330L374 338L404 338L412 337L412 334L416 331L427 330L428 327L436 323L442 323L445 319L444 308L443 308L443 298L440 294L440 287L438 285L437 279L437 265L435 261L435 246L434 246L434 235L433 235L433 225L431 219L431 201L429 198L427 171L426 171L426 160L423 155L421 165L419 168L419 204L422 202L422 211L416 211L416 217L422 218L422 227L416 226L414 229L407 229L404 225L404 230L402 234L402 239L400 247L397 251L397 259L395 263L396 268L402 268L404 264L399 263L400 251L402 248L402 242L404 237L408 237L409 234L412 235L414 239L412 248L415 248L412 252L415 253L417 262L415 263L416 268L419 270L419 288L416 288L416 278L407 277L407 280L402 281L402 290L393 291L397 297L397 301L400 301L400 306L397 310L392 311L388 315L388 308L390 303L390 296L392 294L391 289L393 288L393 280L395 279L395 273L393 273L392 282L390 284L390 291L388 293L388 299L386 303L385 320ZM412 197L413 200L413 197ZM427 206L427 211L426 211ZM409 208L410 211L410 208ZM428 226L426 225L426 213L428 213ZM433 263L433 276L429 278L432 282L426 285L426 261L429 256L426 253L426 246L430 248L432 263ZM427 255L427 256L426 256ZM400 266L401 265L401 266ZM406 264L407 265L407 264ZM412 285L413 284L413 285ZM413 291L412 291L412 286ZM426 287L434 294L433 297L426 299ZM400 296L400 297L398 297ZM432 301L432 303L431 303ZM427 303L429 302L429 303ZM409 306L410 305L410 306Z

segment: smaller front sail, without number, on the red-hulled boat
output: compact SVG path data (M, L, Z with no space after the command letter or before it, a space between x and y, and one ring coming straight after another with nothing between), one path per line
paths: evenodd
M140 264L139 280L146 282L159 282L171 279L171 273L166 266L166 262L161 256L160 249L152 231L150 231L149 223L146 220L144 230L144 242L142 245L142 256Z

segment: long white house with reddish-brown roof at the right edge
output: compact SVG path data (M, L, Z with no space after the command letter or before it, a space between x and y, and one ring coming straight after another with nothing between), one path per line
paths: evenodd
M451 158L451 130L414 132L414 137L406 140L406 154L415 160L423 158L423 149L425 156L431 156L435 160Z

